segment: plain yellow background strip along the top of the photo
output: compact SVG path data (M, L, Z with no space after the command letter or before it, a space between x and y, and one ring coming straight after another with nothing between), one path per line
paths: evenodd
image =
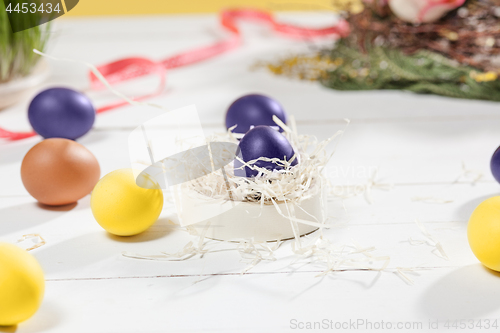
M335 0L80 0L68 16L213 13L227 7L331 10ZM345 1L345 0L344 0Z

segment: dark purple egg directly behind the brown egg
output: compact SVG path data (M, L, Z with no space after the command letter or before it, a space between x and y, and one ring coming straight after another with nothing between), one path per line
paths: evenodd
M44 138L75 140L94 124L95 109L84 94L67 88L51 88L33 98L28 108L31 126Z

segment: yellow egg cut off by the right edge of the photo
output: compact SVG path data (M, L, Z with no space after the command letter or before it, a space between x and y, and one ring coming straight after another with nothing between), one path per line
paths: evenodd
M477 259L500 271L500 197L487 199L476 207L469 219L467 237Z

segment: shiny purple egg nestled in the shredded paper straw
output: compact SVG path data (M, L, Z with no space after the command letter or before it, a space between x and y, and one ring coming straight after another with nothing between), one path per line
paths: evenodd
M295 155L292 145L280 132L269 126L256 126L241 139L238 156L245 162L250 162L259 157L279 158L290 161ZM297 157L292 165L297 164ZM273 162L257 161L254 165L268 170L281 170L282 165ZM255 177L259 173L249 167L241 168L239 160L234 161L234 174L238 177Z

